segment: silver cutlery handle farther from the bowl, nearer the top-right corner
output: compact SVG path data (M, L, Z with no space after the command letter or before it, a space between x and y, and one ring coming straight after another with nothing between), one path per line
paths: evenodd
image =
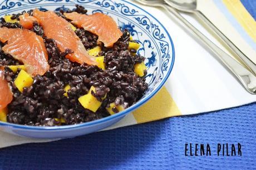
M226 37L217 27L214 26L214 24L209 21L207 17L200 11L195 11L194 12L196 16L198 16L203 22L206 23L222 40L225 44L229 46L230 49L232 49L233 52L237 54L237 56L242 59L242 61L245 63L245 66L247 66L253 73L254 75L256 74L256 65L247 57L245 54L240 51L235 44L229 40L228 37Z

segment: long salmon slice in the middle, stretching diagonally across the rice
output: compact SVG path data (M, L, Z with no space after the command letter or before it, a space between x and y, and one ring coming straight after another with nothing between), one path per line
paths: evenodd
M96 65L95 57L90 56L79 37L72 30L70 23L52 11L41 12L35 9L33 17L36 17L43 27L45 36L55 40L61 52L71 49L73 53L67 54L66 58L72 62Z

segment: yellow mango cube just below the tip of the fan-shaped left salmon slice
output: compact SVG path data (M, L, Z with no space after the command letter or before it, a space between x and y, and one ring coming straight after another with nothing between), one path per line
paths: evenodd
M33 84L33 78L22 69L14 80L14 84L20 92L23 92L24 87L29 87Z

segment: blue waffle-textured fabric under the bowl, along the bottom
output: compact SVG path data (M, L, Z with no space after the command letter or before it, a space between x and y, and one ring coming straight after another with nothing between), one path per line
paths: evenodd
M255 169L255 109L256 103L3 148L0 169ZM217 143L238 142L242 156L217 156ZM185 156L185 143L209 143L211 156Z

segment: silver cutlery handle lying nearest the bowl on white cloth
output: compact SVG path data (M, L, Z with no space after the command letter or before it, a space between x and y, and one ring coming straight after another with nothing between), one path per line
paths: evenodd
M244 68L240 63L238 63L234 58L230 57L222 49L216 46L207 37L204 36L198 29L196 29L190 22L188 22L176 9L170 6L163 6L166 11L174 14L175 17L179 18L183 22L190 32L200 39L206 46L213 51L220 61L223 62L225 66L234 74L235 77L241 82L245 89L251 94L256 94L256 77L248 69Z

